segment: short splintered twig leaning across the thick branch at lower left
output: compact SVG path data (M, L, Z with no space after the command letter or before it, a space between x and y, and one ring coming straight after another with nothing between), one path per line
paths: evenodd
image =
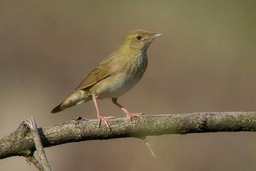
M31 133L33 134L35 149L37 149L37 153L38 153L38 156L39 156L40 161L42 163L42 167L44 168L44 171L51 171L51 167L48 163L47 157L46 157L45 152L44 152L44 147L42 147L40 134L38 133L37 124L35 123L34 117L31 117L29 127L30 127L30 130L31 130Z

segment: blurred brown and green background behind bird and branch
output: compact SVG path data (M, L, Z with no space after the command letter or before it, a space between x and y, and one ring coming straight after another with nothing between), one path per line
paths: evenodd
M0 137L34 116L38 127L77 116L93 102L50 111L132 29L160 32L149 65L119 102L145 114L255 111L255 1L0 0ZM111 100L103 115L124 117ZM94 140L45 149L52 170L255 170L255 133L201 133ZM0 170L36 170L24 157Z

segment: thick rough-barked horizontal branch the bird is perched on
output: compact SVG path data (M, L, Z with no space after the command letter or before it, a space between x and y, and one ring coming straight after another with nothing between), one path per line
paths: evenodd
M143 116L145 121L126 118L109 120L111 131L98 126L97 120L78 117L66 123L39 128L42 146L86 140L121 137L159 136L162 134L209 133L217 131L256 131L256 112L209 112ZM23 124L9 136L0 139L0 159L31 156L35 151L32 134Z

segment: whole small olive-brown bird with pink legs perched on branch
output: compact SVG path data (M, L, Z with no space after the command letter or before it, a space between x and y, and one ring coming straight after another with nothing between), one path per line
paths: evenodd
M117 98L130 90L142 78L147 67L147 48L155 38L160 36L162 34L152 34L142 29L126 34L119 48L104 58L78 85L76 90L55 107L51 113L57 113L65 108L93 100L97 110L99 126L101 120L103 120L110 128L107 119L113 119L114 117L101 116L97 99L111 98L113 103L126 113L127 117L142 119L140 116L142 113L130 113L121 104L117 103Z

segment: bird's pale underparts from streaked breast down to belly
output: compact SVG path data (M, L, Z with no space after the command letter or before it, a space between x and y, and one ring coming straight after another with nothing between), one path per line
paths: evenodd
M132 58L122 72L110 75L90 88L93 96L97 98L114 98L122 96L136 85L147 67L147 55Z

